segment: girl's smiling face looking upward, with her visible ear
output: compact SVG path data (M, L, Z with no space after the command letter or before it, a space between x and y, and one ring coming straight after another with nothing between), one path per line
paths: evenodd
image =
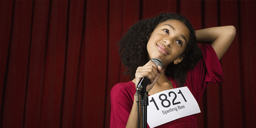
M180 63L185 57L185 51L189 41L189 29L179 20L167 20L160 23L152 32L148 44L148 58L160 58L163 67L168 64Z

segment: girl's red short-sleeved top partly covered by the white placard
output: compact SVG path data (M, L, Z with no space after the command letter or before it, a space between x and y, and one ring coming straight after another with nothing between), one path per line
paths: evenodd
M203 58L198 64L186 75L187 86L195 99L199 102L207 83L218 83L223 81L223 73L218 57L211 45L201 47ZM175 82L172 87L176 88ZM125 128L128 121L131 108L134 102L134 94L136 92L135 84L132 81L118 83L111 90L111 119L110 128ZM156 128L197 128L196 116L186 116L173 120ZM149 128L149 126L148 126Z

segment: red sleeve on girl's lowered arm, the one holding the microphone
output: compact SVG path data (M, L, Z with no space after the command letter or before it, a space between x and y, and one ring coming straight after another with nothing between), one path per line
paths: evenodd
M129 83L118 83L111 89L110 128L125 128L133 105L135 89Z

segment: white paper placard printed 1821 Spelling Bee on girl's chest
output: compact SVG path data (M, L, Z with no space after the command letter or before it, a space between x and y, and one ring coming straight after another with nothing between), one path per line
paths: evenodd
M147 122L150 128L200 112L188 87L164 90L148 96Z

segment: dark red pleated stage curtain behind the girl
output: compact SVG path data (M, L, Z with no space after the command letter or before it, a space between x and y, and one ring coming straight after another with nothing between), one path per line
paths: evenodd
M224 81L199 102L199 128L256 128L255 0L1 0L0 127L108 128L110 91L128 81L116 43L160 12L195 29L233 25Z

